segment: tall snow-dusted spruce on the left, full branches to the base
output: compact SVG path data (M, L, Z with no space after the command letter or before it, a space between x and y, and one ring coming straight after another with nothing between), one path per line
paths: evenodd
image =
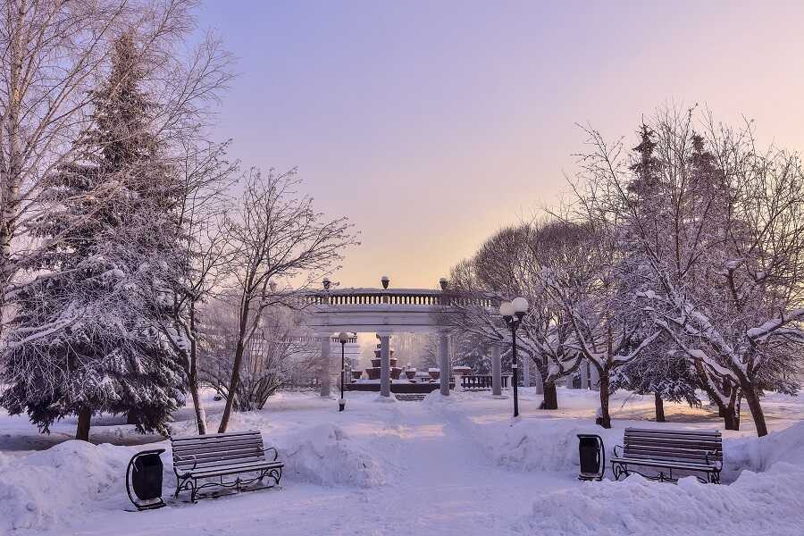
M28 267L37 279L17 297L5 356L10 387L0 398L42 431L78 415L76 437L88 440L91 416L108 412L164 433L184 403L185 373L155 328L163 311L146 299L171 269L177 231L172 173L148 129L154 105L140 88L144 76L133 38L121 36L109 78L93 93L84 162L47 179L54 208L36 222L36 235L69 236ZM52 337L29 341L47 330Z

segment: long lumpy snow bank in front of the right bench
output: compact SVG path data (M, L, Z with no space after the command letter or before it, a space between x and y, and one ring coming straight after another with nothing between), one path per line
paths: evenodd
M677 486L632 475L622 482L586 482L543 495L528 519L538 534L774 534L800 536L804 468L780 463L767 473L745 471L731 485Z

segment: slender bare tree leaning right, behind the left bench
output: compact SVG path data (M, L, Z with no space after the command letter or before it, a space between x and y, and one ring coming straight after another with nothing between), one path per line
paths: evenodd
M239 296L237 344L220 432L229 425L247 346L266 307L288 305L288 292L274 292L271 283L293 283L306 289L336 268L347 247L356 245L347 218L328 220L315 212L310 197L297 194L296 171L263 175L252 169L244 178L239 214L228 233L238 260L233 270ZM293 293L290 293L293 294Z

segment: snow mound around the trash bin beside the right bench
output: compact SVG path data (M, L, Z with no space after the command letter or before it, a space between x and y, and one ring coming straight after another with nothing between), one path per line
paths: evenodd
M578 434L603 439L606 464L615 445L623 444L622 430L606 430L590 423L557 419L520 421L486 438L486 448L497 465L525 471L572 471L577 473Z

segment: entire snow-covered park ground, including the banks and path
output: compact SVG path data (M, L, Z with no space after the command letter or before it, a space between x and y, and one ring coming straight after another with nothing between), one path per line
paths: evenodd
M113 417L95 420L92 439L118 446L65 441L74 422L42 436L0 413L0 534L804 534L804 398L765 399L774 433L763 440L750 415L724 432L727 485L676 486L579 482L575 434L600 433L609 450L626 426L722 428L716 414L666 405L669 422L652 423L652 398L618 394L615 428L603 431L596 392L558 396L562 409L540 411L540 396L522 389L512 421L511 399L488 392L395 403L348 393L344 413L335 399L282 393L230 426L280 448L281 488L143 513L128 511L125 466L139 444L167 441ZM214 423L220 403L205 402ZM174 431L194 432L189 410ZM167 496L175 479L168 453L163 461Z

